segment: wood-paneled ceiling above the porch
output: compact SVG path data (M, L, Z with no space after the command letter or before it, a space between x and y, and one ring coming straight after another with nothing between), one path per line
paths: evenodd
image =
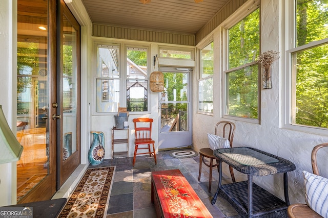
M82 0L93 23L195 35L233 0Z

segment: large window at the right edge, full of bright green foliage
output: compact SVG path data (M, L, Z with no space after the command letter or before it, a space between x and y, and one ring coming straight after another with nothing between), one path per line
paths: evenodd
M292 1L296 10L293 45L288 50L291 101L286 124L298 128L328 128L328 4L325 1ZM294 38L293 36L296 36ZM290 58L290 59L289 59ZM289 88L291 87L291 88ZM287 99L288 101L288 99ZM306 128L310 130L311 128ZM311 131L311 130L310 130ZM314 129L315 131L315 129Z

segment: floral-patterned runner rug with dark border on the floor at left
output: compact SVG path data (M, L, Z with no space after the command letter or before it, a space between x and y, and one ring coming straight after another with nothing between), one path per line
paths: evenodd
M115 166L87 169L57 217L106 217L114 172Z

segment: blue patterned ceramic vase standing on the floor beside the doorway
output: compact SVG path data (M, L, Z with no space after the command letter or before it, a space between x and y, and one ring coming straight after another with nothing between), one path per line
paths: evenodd
M88 159L91 165L98 165L103 162L105 157L105 142L103 132L91 132L93 134L93 141L88 153Z

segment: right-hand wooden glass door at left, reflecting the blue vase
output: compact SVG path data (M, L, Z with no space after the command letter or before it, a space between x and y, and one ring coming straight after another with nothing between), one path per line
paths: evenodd
M79 150L79 75L80 75L80 26L64 1L60 15L60 90L58 96L57 133L59 178L58 189L80 163Z

